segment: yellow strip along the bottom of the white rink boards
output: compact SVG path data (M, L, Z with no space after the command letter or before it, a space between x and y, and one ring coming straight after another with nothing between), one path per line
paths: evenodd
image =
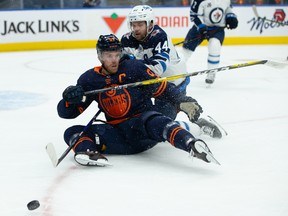
M173 38L173 43L179 43L184 38ZM268 44L288 44L288 36L283 37L228 37L224 40L224 45L268 45ZM0 52L26 51L26 50L53 50L53 49L81 49L95 48L95 40L77 41L51 41L51 42L25 42L0 44ZM180 44L181 46L182 44ZM201 45L207 45L203 41Z

